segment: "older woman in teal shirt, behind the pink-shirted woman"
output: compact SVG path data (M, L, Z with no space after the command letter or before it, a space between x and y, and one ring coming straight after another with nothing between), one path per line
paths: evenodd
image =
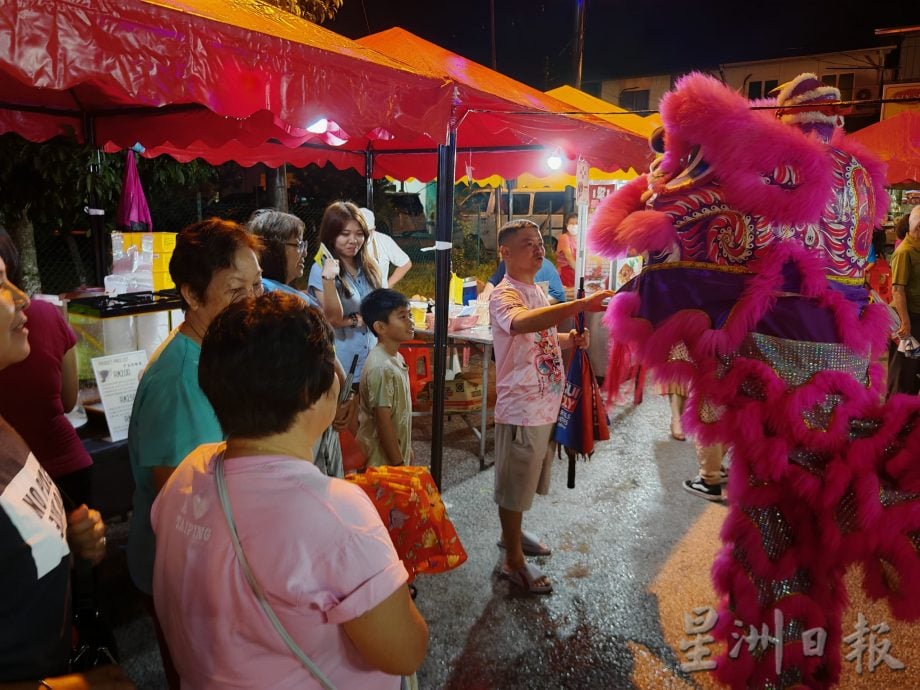
M169 273L185 320L147 365L128 429L135 483L128 570L135 586L148 597L153 592L156 551L150 526L153 500L186 455L202 443L224 439L198 385L201 341L211 321L228 305L262 294L260 251L258 238L236 223L217 218L190 225L176 239ZM153 613L152 598L148 604ZM160 652L170 687L177 688L178 676L162 641Z

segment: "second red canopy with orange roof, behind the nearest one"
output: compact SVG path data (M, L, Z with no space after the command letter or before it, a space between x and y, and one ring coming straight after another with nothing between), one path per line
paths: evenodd
M649 161L644 136L609 119L585 114L577 107L408 31L393 28L359 39L358 43L419 73L436 75L454 84L453 107L443 129L446 132L452 126L458 133L461 165L456 177L462 177L468 167L475 169L477 175L498 174L508 178L522 172L549 172L546 155L556 148L566 154L564 168L569 172L574 172L579 154L605 170L643 169ZM415 177L423 181L436 177L438 164L434 154L442 142L430 132L419 130L409 140L330 139L316 146L300 146L300 141L290 137L237 139L216 146L207 141L156 145L148 143L146 138L142 143L147 156L167 153L180 161L203 158L216 165L233 160L244 166L331 162L338 168L355 168L372 177Z

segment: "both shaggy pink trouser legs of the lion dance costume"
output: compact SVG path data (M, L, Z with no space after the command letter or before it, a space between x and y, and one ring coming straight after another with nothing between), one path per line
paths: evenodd
M920 577L920 400L882 407L843 370L790 386L775 364L723 361L689 401L701 440L733 446L713 568L727 653L717 674L735 688L826 688L840 674L849 564L862 561L867 591L895 616L920 616L909 584Z

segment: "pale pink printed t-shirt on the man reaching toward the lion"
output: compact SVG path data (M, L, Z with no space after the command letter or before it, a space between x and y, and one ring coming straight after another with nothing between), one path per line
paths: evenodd
M565 373L556 328L518 333L514 317L549 306L537 285L505 275L492 291L489 312L495 346L495 421L517 426L552 424L559 416Z

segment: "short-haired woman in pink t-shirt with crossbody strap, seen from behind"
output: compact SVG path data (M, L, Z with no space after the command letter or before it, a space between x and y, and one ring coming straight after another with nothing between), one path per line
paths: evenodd
M428 645L400 562L359 488L314 467L335 416L332 331L295 295L228 307L205 334L199 382L227 433L179 466L151 512L154 603L187 688L316 688L259 607L231 541L287 633L337 688L396 690Z

